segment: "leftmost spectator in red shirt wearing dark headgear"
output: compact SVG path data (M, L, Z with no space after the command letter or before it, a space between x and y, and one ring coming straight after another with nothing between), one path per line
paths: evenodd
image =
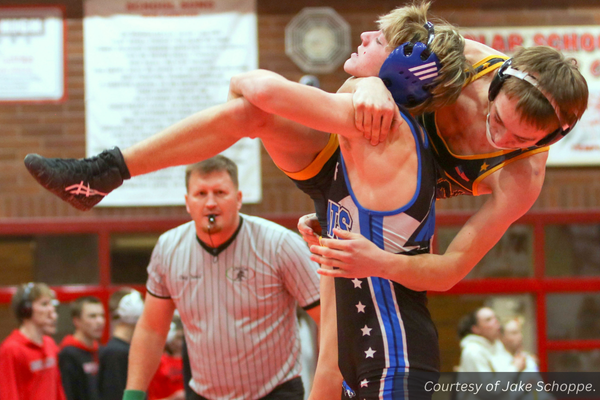
M0 400L65 400L54 292L44 283L20 286L12 298L19 328L0 345Z

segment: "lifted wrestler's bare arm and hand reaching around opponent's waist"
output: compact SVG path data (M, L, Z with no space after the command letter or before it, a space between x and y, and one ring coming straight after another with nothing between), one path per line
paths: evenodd
M334 232L345 240L323 239L311 246L313 261L338 267L325 276L379 276L413 290L445 291L458 283L537 199L547 153L508 164L486 178L492 194L466 222L443 255L404 256L385 252L361 235Z

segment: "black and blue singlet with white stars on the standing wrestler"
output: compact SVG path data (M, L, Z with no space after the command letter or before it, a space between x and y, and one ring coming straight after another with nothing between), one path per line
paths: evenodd
M417 189L408 204L393 211L362 207L333 142L317 157L322 168L311 165L305 170L318 170L316 174L290 174L313 197L319 213L325 211L328 237L338 227L360 233L392 253L430 252L435 225L433 156L422 129L406 111L402 114L419 160ZM327 152L330 156L323 156ZM339 366L346 394L359 399L430 398L423 388L426 381L437 380L439 348L426 293L377 277L336 278L335 291Z

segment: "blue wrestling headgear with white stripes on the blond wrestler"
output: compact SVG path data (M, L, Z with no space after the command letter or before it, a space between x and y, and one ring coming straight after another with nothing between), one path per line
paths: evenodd
M396 47L384 61L379 77L392 93L396 103L407 107L421 104L432 95L429 89L438 76L441 64L429 46L433 42L431 22L425 24L429 33L427 44L413 38Z

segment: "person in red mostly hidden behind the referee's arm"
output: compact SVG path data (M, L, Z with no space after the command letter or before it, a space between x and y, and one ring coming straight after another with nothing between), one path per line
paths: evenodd
M158 370L148 386L148 400L185 399L182 349L183 327L176 313L167 335L165 352L161 356Z

